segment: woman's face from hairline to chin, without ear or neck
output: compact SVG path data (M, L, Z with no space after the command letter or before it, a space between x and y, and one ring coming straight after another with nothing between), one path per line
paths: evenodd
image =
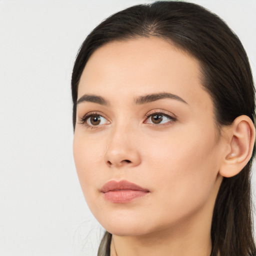
M198 62L160 38L110 42L78 86L73 154L109 232L142 235L210 218L222 139Z

